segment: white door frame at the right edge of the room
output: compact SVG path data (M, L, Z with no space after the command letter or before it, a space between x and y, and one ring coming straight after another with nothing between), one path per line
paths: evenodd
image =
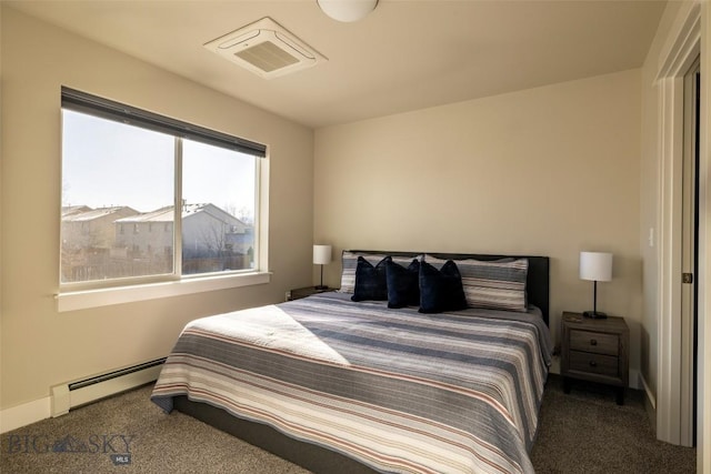
M681 221L683 163L684 75L701 52L701 4L693 2L678 19L677 34L660 54L659 90L659 364L657 384L657 437L673 444L691 445L684 426L693 424L693 410L680 400L682 367L681 311ZM703 63L703 58L701 59ZM701 138L703 139L703 138ZM700 202L700 208L703 208ZM700 212L703 209L699 210ZM704 242L700 239L699 255ZM699 284L704 278L703 270ZM703 286L701 286L703 288ZM700 295L703 297L703 295ZM701 302L700 302L701 305ZM701 309L700 309L701 310ZM700 317L702 312L700 311ZM685 390L693 390L685 387ZM682 433L683 432L683 433Z

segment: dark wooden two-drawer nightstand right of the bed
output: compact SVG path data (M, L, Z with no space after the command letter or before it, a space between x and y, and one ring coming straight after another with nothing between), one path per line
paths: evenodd
M630 330L624 319L593 320L580 313L564 312L561 336L563 392L570 393L573 379L613 385L618 405L622 405L630 370Z

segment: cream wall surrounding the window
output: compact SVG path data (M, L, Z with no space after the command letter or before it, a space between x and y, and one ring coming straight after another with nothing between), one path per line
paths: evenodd
M282 301L311 281L312 130L1 8L0 409L164 356L189 320ZM61 85L268 144L271 283L58 313Z

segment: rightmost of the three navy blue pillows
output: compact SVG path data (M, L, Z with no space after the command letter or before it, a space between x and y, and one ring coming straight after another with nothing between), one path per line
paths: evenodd
M420 313L441 313L467 307L462 276L457 264L448 260L441 270L420 263Z

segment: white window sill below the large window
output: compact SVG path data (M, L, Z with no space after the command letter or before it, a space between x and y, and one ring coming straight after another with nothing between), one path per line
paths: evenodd
M87 310L111 304L133 303L137 301L157 300L160 297L180 296L214 290L229 290L239 286L269 283L268 272L220 275L201 279L140 284L134 286L117 286L109 289L73 291L57 295L57 311Z

